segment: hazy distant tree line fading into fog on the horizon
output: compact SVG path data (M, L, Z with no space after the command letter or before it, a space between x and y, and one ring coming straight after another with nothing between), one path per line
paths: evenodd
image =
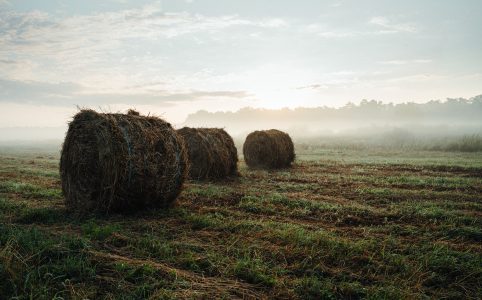
M235 125L243 130L259 127L306 127L309 124L482 124L482 95L471 99L449 98L446 101L431 100L427 103L384 104L381 101L363 99L360 104L348 102L341 108L300 107L296 109L263 109L245 107L237 112L210 113L205 110L188 116L186 125L224 127ZM327 128L323 128L327 129Z

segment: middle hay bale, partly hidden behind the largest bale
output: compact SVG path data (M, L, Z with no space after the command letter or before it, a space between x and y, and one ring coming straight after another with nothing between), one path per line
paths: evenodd
M189 128L177 131L186 144L189 177L196 180L237 175L238 151L231 136L220 128Z

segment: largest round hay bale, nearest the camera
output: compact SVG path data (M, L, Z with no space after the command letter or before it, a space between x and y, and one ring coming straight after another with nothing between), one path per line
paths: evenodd
M171 125L132 113L80 111L60 158L65 203L80 213L169 206L187 169L184 142Z

